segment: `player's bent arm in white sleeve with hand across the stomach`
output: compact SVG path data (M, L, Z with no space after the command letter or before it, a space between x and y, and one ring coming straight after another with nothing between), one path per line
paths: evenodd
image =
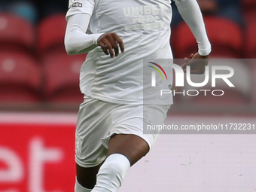
M70 55L87 53L100 46L111 57L118 55L118 44L123 52L123 41L115 33L87 34L90 23L89 14L74 14L67 17L65 47Z

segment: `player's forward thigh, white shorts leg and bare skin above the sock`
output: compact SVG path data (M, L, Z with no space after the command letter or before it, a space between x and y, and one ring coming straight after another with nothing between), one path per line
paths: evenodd
M118 113L115 115L113 112L112 115L120 117L111 128L108 155L123 154L130 160L131 165L136 163L148 153L158 136L155 130L146 130L148 123L162 124L168 109L169 105L137 105L118 108Z

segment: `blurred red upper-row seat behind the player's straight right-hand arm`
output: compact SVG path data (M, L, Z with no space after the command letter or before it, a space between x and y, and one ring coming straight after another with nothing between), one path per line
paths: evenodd
M238 24L222 17L205 17L206 30L212 44L211 56L241 58L242 31ZM175 58L197 53L197 42L186 23L181 23L172 37Z

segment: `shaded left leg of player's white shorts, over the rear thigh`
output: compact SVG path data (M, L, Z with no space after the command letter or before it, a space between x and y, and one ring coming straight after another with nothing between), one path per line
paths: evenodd
M113 108L116 106L85 97L75 131L75 161L79 166L96 167L105 160L107 149L101 139L109 134Z

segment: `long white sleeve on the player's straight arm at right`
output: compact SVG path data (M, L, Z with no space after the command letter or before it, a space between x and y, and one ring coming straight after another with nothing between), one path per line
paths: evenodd
M209 55L212 51L212 47L206 33L205 23L203 22L203 16L200 7L197 4L197 0L173 1L175 2L181 17L187 23L187 26L189 26L197 40L198 53L200 53L201 56Z

